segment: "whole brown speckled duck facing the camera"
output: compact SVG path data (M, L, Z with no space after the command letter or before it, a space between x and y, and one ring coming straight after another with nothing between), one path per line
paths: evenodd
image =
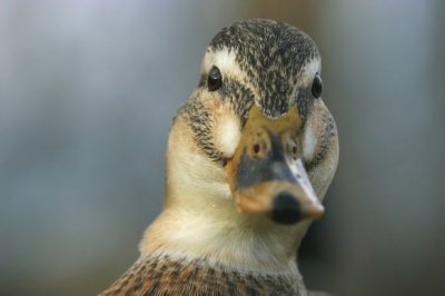
M297 250L339 151L320 75L316 43L291 24L219 31L172 119L162 210L100 295L310 295Z

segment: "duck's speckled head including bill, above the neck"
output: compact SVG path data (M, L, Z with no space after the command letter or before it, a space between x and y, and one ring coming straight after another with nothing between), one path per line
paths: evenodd
M320 71L316 45L291 26L250 20L221 30L174 121L167 206L224 204L278 224L323 216L338 141Z

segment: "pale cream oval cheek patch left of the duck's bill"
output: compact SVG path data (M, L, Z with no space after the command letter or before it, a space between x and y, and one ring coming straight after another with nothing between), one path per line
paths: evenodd
M214 144L225 157L230 158L234 156L240 137L240 122L236 115L224 115L215 122Z

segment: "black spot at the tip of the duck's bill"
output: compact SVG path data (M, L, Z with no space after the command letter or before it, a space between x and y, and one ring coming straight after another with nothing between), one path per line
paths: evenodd
M280 224L294 224L300 219L300 207L297 198L290 193L279 193L273 205L271 219Z

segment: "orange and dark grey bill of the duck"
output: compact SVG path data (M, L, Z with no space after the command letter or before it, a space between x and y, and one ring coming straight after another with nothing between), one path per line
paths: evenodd
M318 219L324 207L300 158L300 120L295 107L278 119L254 106L227 176L240 213L276 223Z

